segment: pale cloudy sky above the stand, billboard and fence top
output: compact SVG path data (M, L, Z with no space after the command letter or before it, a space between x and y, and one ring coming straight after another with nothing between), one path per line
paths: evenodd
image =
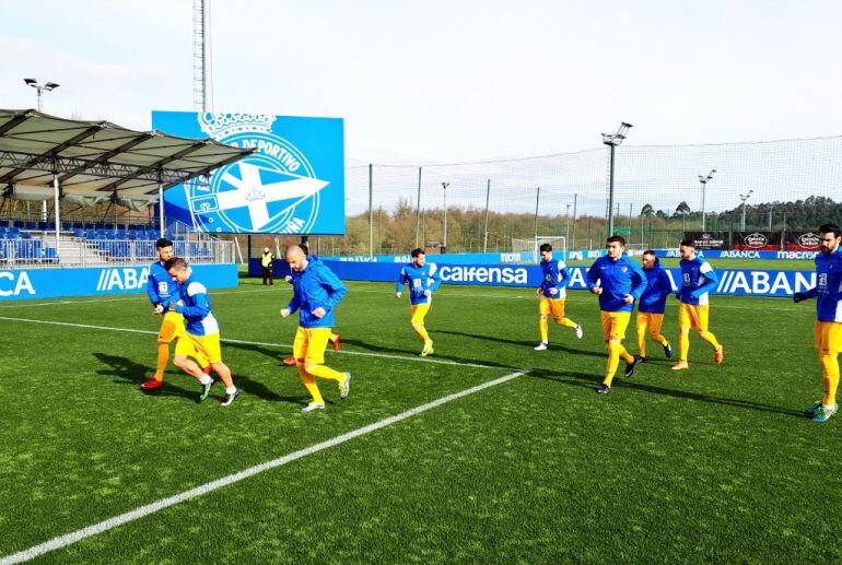
M347 155L456 162L842 132L831 1L212 0L214 109L346 119ZM192 109L191 1L0 4L0 106L148 129Z

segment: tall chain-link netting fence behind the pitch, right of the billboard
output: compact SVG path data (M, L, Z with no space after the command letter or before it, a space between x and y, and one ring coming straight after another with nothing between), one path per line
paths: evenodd
M842 221L842 137L615 148L613 231L674 247L686 231L815 229ZM510 250L512 239L564 236L601 246L610 149L536 157L346 168L347 235L321 252Z

